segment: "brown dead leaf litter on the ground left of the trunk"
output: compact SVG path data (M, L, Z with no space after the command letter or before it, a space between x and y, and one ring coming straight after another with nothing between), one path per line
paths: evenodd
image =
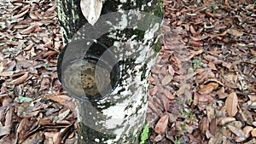
M0 143L74 143L76 116L62 94L62 49L51 0L0 2Z

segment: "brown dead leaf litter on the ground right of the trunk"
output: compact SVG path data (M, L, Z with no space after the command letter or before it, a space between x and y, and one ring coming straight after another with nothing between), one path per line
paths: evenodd
M256 143L256 5L165 0L149 79L153 143Z

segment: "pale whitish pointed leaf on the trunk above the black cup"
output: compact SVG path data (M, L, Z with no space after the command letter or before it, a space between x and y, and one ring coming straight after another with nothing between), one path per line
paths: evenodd
M102 0L81 0L80 8L85 19L94 26L102 12Z

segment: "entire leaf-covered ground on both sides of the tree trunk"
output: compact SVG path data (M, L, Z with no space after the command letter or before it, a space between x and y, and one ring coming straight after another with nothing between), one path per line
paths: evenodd
M256 143L256 3L164 0L147 123L159 144ZM73 101L57 78L51 0L0 0L0 144L66 143Z

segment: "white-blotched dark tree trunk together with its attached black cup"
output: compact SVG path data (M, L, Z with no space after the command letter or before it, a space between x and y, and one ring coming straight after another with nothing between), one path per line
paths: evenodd
M79 0L56 0L65 48L58 75L78 113L79 144L139 143L162 2L105 0L91 26Z

